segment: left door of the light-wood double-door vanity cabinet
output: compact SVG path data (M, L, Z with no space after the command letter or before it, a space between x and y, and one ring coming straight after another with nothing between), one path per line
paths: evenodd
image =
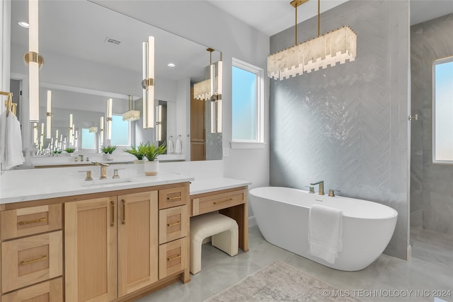
M116 197L64 204L66 301L117 297Z

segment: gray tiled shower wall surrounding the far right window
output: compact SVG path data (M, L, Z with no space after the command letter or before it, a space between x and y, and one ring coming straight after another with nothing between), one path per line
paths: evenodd
M450 56L453 14L411 27L411 225L453 234L453 165L432 163L432 61Z

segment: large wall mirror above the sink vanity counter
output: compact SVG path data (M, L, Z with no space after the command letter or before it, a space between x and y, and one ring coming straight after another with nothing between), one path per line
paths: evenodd
M18 22L27 20L28 1L12 1L11 87L22 91L28 90L28 68L23 63L23 54L28 51L28 30ZM142 110L142 42L149 35L155 37L159 127L142 129L142 119L126 122L127 139L126 130L121 132L122 137L115 137L120 132L114 128L111 143L117 141L116 145L127 148L142 141L166 141L173 145L168 153L175 153L179 139L182 151L178 158L190 160L190 88L206 79L205 68L210 62L207 47L90 1L39 2L39 52L45 60L40 70L40 122L33 129L25 110L21 110L27 101L16 100L24 147L35 149L41 131L44 147L57 139L63 143L64 138L69 145L71 115L78 134L76 148L83 153L99 152L104 144L99 132L101 117L106 115L108 98L113 100L113 116L120 117L130 109ZM47 91L52 91L50 138L46 136ZM205 122L209 123L210 118L205 117ZM222 139L217 135L208 144L205 159L221 159L221 151Z

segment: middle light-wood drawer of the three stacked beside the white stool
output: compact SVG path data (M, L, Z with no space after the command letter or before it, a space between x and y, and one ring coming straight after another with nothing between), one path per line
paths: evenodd
M159 244L188 236L188 205L159 210Z

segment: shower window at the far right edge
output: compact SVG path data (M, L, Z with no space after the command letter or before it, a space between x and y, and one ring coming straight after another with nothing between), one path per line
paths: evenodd
M432 161L453 164L453 57L432 64Z

